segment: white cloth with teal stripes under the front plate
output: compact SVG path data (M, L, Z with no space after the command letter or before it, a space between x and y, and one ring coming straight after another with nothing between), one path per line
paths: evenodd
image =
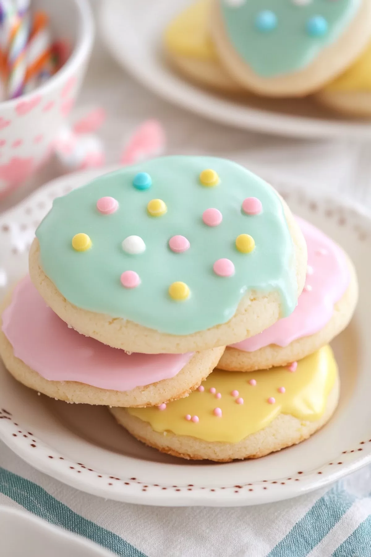
M131 505L65 486L0 442L0 505L23 507L122 557L370 557L370 492L368 467L327 490L271 505Z

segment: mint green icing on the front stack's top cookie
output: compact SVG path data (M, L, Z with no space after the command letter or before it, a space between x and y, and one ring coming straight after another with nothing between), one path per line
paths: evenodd
M214 187L200 184L200 172L207 168L219 174ZM133 187L138 172L150 174L149 189ZM104 196L117 199L115 213L97 211ZM243 213L246 197L260 199L259 215ZM166 203L164 216L147 213L154 198ZM208 208L221 211L219 226L202 222ZM71 240L79 232L90 236L90 250L73 250ZM253 236L254 252L236 249L235 239L242 233ZM189 240L189 250L170 250L168 242L177 234ZM140 255L122 250L122 241L131 235L145 242ZM294 247L280 198L264 180L229 160L162 157L106 174L55 199L36 236L43 270L68 301L163 333L186 335L225 323L251 289L279 291L284 315L297 302ZM234 276L215 275L212 266L220 258L233 261ZM129 290L121 285L121 273L127 270L138 273L140 286ZM168 288L175 281L189 286L189 299L170 298Z

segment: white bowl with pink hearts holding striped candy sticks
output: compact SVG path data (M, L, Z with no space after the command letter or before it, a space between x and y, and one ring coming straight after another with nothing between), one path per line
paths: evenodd
M67 40L71 55L41 87L0 102L0 197L24 182L48 158L70 112L90 56L94 25L88 0L33 0L50 16L53 37Z

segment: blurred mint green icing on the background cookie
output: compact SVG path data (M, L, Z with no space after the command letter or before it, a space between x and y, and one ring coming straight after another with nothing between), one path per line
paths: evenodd
M245 0L239 7L228 0L220 2L227 36L235 50L256 74L275 77L304 69L323 48L337 41L362 0L311 0L306 6L294 0ZM272 31L262 32L255 21L265 10L274 12L277 25ZM324 36L311 37L306 30L314 16L327 20Z

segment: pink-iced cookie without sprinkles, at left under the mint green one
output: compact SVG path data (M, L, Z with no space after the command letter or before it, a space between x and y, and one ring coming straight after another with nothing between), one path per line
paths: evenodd
M185 397L223 348L187 354L127 354L69 329L27 276L4 302L0 354L19 382L67 402L159 405Z

